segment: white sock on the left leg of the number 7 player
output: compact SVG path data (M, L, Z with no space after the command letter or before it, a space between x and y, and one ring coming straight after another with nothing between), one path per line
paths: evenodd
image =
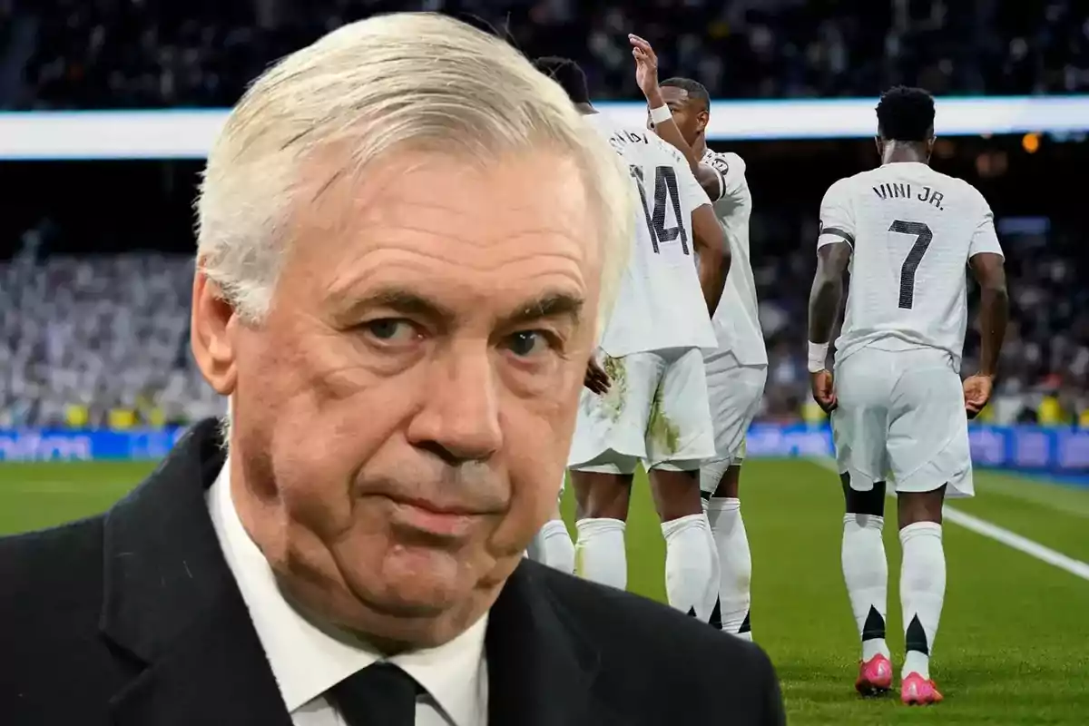
M843 517L843 545L840 561L847 585L851 610L862 640L862 661L879 653L890 656L885 642L889 612L889 561L885 558L881 529L884 517L847 514Z

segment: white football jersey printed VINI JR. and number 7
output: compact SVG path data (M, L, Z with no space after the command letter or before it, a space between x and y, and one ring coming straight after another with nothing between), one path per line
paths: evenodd
M867 346L928 346L947 350L959 369L968 259L1002 255L983 196L925 163L884 164L824 194L817 247L836 242L852 247L836 361Z

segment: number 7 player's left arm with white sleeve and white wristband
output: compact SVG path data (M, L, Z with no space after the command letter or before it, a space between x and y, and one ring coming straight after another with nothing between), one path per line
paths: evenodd
M844 182L836 182L821 202L817 236L817 273L809 292L809 352L813 398L825 411L835 408L832 374L827 370L828 346L843 300L843 275L855 244L855 225Z

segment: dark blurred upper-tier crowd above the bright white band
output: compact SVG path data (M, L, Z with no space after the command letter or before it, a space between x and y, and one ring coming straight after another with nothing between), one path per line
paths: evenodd
M638 98L626 34L719 98L1089 88L1078 0L0 0L8 108L230 106L267 63L344 22L433 10L583 63Z

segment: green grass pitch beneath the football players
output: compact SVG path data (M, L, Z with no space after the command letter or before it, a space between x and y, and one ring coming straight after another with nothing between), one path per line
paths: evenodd
M152 466L0 464L0 533L100 512ZM977 472L977 489L979 496L954 506L1089 561L1089 488ZM742 496L754 635L779 668L791 724L1089 724L1089 581L946 525L949 586L933 660L945 702L864 701L853 689L857 637L840 574L836 477L809 462L751 462ZM889 626L898 656L900 542L891 525ZM627 543L629 587L662 600L664 546L643 481Z

